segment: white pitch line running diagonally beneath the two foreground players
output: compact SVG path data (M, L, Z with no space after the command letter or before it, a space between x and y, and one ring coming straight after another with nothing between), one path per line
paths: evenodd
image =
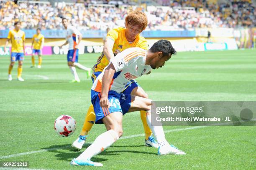
M195 126L195 127L190 127L190 128L180 128L180 129L172 129L172 130L165 130L164 133L170 133L170 132L177 132L177 131L182 131L182 130L192 130L192 129L198 129L198 128L205 128L207 126ZM120 140L122 139L129 139L129 138L136 138L139 136L144 136L145 134L138 134L138 135L130 135L130 136L124 136L121 137ZM66 146L66 147L62 147L62 148L68 148L70 146ZM25 152L25 153L17 153L17 154L13 154L13 155L6 155L6 156L1 156L1 159L5 159L5 158L13 158L13 157L18 157L18 156L22 156L22 155L29 155L29 154L33 154L33 153L42 153L42 152L47 152L49 150L58 150L61 148L50 148L50 149L43 149L43 150L35 150L35 151L31 151L31 152Z

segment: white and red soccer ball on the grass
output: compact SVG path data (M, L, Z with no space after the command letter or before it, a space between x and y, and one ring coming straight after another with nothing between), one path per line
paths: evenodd
M76 121L69 115L61 115L54 122L54 130L63 137L72 135L76 127Z

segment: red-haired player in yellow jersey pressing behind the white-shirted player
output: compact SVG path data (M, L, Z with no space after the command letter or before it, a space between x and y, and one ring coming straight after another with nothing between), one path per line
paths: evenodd
M132 11L125 18L125 28L119 27L108 32L103 52L93 67L92 82L96 80L97 76L100 75L103 69L108 65L109 60L121 51L130 47L141 47L142 49L148 50L147 41L144 37L139 35L146 29L147 24L148 20L146 14L141 11ZM134 80L128 82L123 93L148 98L146 92L138 85L138 82ZM145 132L145 145L158 148L159 145L153 138L152 131L147 125L145 111L141 111L141 120ZM90 105L80 136L74 141L72 147L79 150L82 148L94 123L95 112L93 105Z

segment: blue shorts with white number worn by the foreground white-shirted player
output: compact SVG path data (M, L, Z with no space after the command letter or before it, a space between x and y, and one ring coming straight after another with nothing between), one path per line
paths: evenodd
M91 101L96 115L95 124L102 124L102 118L113 112L122 112L123 115L128 112L131 107L131 95L117 93L113 90L108 92L108 100L111 103L110 108L100 107L100 92L91 90Z

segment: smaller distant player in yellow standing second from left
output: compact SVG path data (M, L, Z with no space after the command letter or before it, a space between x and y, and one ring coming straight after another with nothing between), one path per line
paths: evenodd
M32 66L35 67L35 54L37 53L38 55L38 68L41 68L42 64L42 48L44 46L44 35L41 34L41 29L37 28L36 29L36 34L32 38Z

